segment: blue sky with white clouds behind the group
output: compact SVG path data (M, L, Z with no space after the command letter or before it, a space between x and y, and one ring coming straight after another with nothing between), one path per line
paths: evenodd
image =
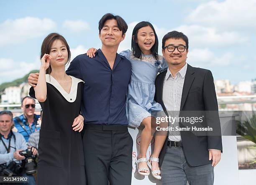
M40 49L52 32L63 35L72 58L100 48L98 22L105 13L128 24L118 52L131 49L140 21L154 25L159 38L172 30L189 38L187 63L212 71L232 84L256 79L256 0L0 0L0 84L40 67Z

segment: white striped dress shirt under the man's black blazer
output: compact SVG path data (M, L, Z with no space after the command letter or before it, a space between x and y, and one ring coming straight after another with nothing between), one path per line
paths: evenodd
M186 72L187 63L176 73L175 77L172 76L171 71L167 68L163 84L162 99L169 117L179 117L182 89ZM181 141L180 132L176 130L176 128L179 128L179 122L169 122L169 126L174 128L174 131L169 131L169 140Z

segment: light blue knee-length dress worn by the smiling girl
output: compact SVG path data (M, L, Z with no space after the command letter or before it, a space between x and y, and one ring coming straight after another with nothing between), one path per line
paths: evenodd
M139 127L144 118L154 116L151 115L152 111L163 110L162 106L154 101L155 80L157 73L167 68L167 63L160 55L158 61L153 55L144 54L140 60L133 56L130 50L122 51L120 55L131 61L132 74L127 96L128 122L132 127Z

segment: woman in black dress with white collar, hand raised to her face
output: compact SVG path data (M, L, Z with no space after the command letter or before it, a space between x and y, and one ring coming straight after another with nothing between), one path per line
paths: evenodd
M70 60L65 38L49 34L41 47L38 83L31 87L43 111L38 144L39 185L85 185L84 154L79 115L83 81L65 73Z

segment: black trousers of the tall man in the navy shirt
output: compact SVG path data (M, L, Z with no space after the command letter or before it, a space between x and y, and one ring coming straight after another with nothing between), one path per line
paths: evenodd
M83 136L87 185L131 185L133 139L128 130L93 130Z

